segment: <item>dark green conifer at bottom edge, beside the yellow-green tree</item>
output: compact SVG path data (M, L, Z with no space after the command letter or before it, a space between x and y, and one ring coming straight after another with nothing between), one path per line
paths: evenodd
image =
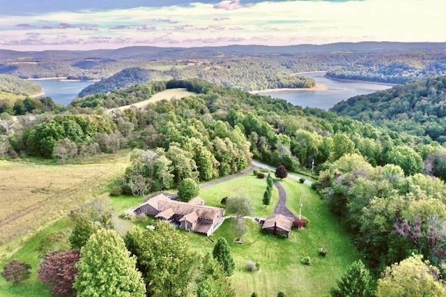
M361 260L353 262L346 273L337 281L337 287L330 290L333 297L374 296L374 283L369 270Z

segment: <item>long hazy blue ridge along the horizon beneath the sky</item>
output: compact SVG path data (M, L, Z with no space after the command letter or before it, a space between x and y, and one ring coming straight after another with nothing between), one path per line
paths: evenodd
M387 52L387 51L413 51L413 50L446 50L446 43L395 43L364 41L360 43L330 43L325 45L226 45L218 47L151 47L132 46L116 50L46 50L42 52L18 52L0 50L0 59L17 59L20 57L33 57L43 59L52 56L59 59L82 59L87 56L98 56L102 59L135 59L157 58L176 59L202 57L203 53L210 56L226 55L257 55L257 54L300 54L300 53L326 53L326 52Z

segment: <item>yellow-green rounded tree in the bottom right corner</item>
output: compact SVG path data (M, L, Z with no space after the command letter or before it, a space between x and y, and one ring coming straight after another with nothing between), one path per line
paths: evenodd
M385 268L378 280L377 296L446 296L446 286L438 268L414 254Z

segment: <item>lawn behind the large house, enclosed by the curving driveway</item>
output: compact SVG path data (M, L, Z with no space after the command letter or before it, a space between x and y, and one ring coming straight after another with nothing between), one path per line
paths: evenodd
M279 201L279 192L277 188L272 188L272 197L269 206L263 205L263 193L266 190L266 178L257 178L253 174L235 178L231 181L219 183L213 187L200 190L199 197L203 198L206 205L224 208L220 204L223 197L234 198L243 196L251 201L253 206L253 216L266 218L272 214L274 208ZM226 213L231 215L231 213Z

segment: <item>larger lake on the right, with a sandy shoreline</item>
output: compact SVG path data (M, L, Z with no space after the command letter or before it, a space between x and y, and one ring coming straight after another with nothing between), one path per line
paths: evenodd
M260 92L260 95L281 98L293 105L302 107L317 107L328 110L337 102L346 100L353 96L364 95L389 89L392 86L385 84L374 84L369 82L345 82L324 77L325 73L302 73L300 76L310 77L316 84L327 86L325 91L268 91Z

